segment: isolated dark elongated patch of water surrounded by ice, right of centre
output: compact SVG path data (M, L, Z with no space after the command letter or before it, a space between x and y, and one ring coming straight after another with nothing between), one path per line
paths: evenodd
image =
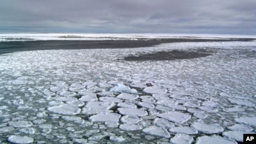
M127 56L125 61L164 61L176 59L192 59L210 56L213 53L211 50L194 49L192 51L173 50L173 51L158 51L156 53L141 54L139 56Z

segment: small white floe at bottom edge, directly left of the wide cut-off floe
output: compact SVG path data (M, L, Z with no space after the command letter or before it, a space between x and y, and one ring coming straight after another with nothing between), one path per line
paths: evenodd
M171 138L170 142L173 144L190 144L193 141L193 137L183 134L177 133L173 138Z

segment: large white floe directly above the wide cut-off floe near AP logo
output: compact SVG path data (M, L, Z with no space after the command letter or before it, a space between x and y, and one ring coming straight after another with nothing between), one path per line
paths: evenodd
M196 130L201 133L213 134L213 133L221 133L224 129L219 125L206 124L206 123L198 123L195 122L191 125Z

